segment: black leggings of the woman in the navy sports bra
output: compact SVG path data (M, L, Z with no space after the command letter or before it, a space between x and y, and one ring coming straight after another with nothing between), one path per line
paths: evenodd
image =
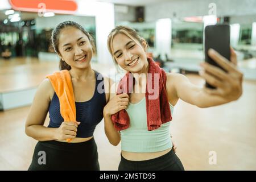
M43 153L46 154L46 164L42 164ZM40 162L41 164L39 164ZM94 138L81 143L57 142L55 140L38 142L28 170L99 171L97 145Z

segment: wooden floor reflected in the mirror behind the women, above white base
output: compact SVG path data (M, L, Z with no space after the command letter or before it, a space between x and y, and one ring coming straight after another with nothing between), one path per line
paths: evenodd
M114 69L114 65L92 64L97 71ZM59 71L57 61L39 61L34 57L0 59L0 93L38 86L46 75Z

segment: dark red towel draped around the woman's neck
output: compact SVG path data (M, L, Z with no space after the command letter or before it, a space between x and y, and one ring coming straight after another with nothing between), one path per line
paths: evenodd
M155 64L154 60L150 57L147 57L149 68L147 76L147 86L146 86L146 110L147 110L147 130L158 129L162 123L166 123L172 120L170 105L166 93L166 72L158 65ZM156 99L150 99L154 96L154 93L148 92L148 88L154 90L154 73L158 73L158 95ZM150 76L152 75L152 76ZM131 80L133 79L133 80ZM130 84L129 84L130 81ZM150 84L150 85L149 85ZM152 85L151 85L152 84ZM131 77L131 74L126 73L126 75L119 81L117 94L121 93L131 93L134 85L134 78ZM114 127L116 130L125 130L130 126L130 118L126 110L123 109L118 113L115 113L111 117Z

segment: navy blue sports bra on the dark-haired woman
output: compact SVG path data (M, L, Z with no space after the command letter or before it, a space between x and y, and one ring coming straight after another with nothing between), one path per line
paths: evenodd
M76 135L76 137L79 138L87 138L93 136L95 127L103 118L103 109L106 105L104 84L99 86L99 88L103 89L103 93L99 93L97 89L101 82L104 83L104 78L100 73L96 71L94 72L96 76L96 86L93 97L89 101L76 102L76 120L81 122L77 127ZM97 80L97 78L101 80ZM48 127L60 127L64 119L60 115L60 101L56 93L54 93L52 97L48 111L50 119Z

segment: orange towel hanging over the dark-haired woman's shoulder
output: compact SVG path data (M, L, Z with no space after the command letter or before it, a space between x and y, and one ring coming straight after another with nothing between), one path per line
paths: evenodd
M47 75L60 101L60 114L64 121L76 122L76 104L71 76L68 70ZM71 139L67 139L70 142Z

